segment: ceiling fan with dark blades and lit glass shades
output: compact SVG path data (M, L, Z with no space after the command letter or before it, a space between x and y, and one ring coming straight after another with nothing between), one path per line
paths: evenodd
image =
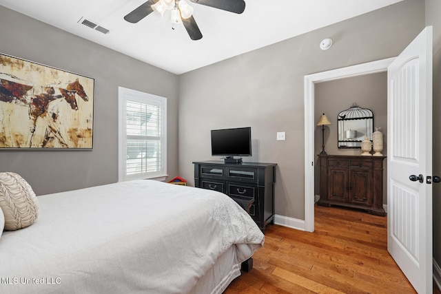
M242 13L245 10L244 0L190 0L193 3L218 8L237 14ZM150 13L156 11L161 15L165 10L172 10L172 18L170 22L175 25L176 23L183 23L185 30L189 34L192 40L199 40L202 38L201 30L193 17L193 7L185 0L148 0L141 6L127 14L124 19L130 23L137 23L144 17L147 17ZM172 26L174 28L174 26Z

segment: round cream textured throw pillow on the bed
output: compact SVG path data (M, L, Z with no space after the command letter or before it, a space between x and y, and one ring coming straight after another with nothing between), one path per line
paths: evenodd
M5 218L5 230L30 226L39 216L39 202L34 191L19 174L0 173L0 209Z

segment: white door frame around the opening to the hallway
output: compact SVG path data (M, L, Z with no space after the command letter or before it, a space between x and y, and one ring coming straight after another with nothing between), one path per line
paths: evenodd
M339 78L386 72L387 67L394 59L395 57L392 57L305 76L305 231L314 232L314 162L316 162L316 154L314 154L314 131L316 129L314 84Z

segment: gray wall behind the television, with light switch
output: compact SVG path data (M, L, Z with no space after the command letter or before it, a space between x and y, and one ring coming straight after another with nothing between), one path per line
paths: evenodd
M192 184L192 161L216 159L210 129L250 126L245 160L278 163L276 214L304 220L304 76L396 56L423 28L424 1L407 0L181 75L179 174Z

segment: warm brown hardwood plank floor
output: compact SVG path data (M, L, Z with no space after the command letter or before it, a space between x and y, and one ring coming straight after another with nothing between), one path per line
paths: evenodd
M416 293L387 252L387 218L337 207L315 214L314 233L268 226L254 268L225 294Z

